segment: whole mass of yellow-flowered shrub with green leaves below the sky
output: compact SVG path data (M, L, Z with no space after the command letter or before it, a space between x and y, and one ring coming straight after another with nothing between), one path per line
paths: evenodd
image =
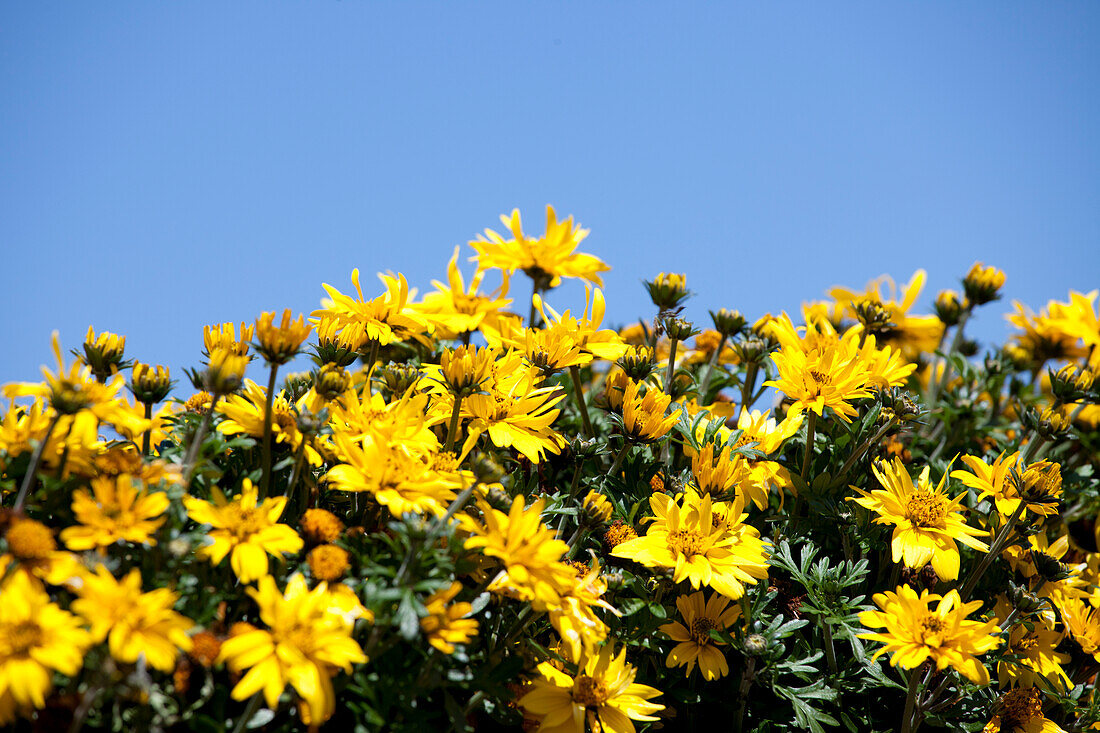
M980 359L981 264L705 328L661 274L615 330L586 230L503 219L419 302L208 326L194 394L55 335L3 389L0 724L1100 727L1096 292Z

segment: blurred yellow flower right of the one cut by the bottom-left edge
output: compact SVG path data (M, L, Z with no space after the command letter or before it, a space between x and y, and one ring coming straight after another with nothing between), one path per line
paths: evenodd
M111 656L133 664L144 656L148 666L172 671L179 650L191 648L190 619L172 610L179 598L167 588L141 591L141 572L134 568L121 581L102 565L85 575L73 610L88 622L95 641L108 641Z

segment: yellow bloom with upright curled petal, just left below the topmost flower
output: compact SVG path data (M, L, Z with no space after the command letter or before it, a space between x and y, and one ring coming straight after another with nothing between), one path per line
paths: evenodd
M436 327L440 338L455 339L462 333L479 330L483 324L495 325L499 311L512 305L512 298L505 297L508 294L508 273L504 273L501 287L491 295L479 293L484 276L485 271L479 270L470 280L470 287L465 286L459 271L459 248L455 247L454 255L447 265L448 283L431 281L436 292L425 295L416 306Z

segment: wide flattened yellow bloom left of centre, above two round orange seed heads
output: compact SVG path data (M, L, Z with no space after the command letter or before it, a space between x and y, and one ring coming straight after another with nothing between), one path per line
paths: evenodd
M332 436L343 462L326 475L339 491L369 491L394 516L407 513L442 516L461 481L436 471L404 445L380 440L360 444L343 433Z

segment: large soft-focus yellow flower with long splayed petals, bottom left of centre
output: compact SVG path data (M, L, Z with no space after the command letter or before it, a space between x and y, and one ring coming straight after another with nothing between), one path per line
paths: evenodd
M271 576L248 592L268 628L254 628L222 643L218 661L228 663L234 672L248 670L232 698L246 700L263 691L274 709L289 683L308 705L310 722L324 722L336 711L332 671L350 672L353 664L366 661L332 593L326 583L310 591L299 575L287 582L285 594Z

